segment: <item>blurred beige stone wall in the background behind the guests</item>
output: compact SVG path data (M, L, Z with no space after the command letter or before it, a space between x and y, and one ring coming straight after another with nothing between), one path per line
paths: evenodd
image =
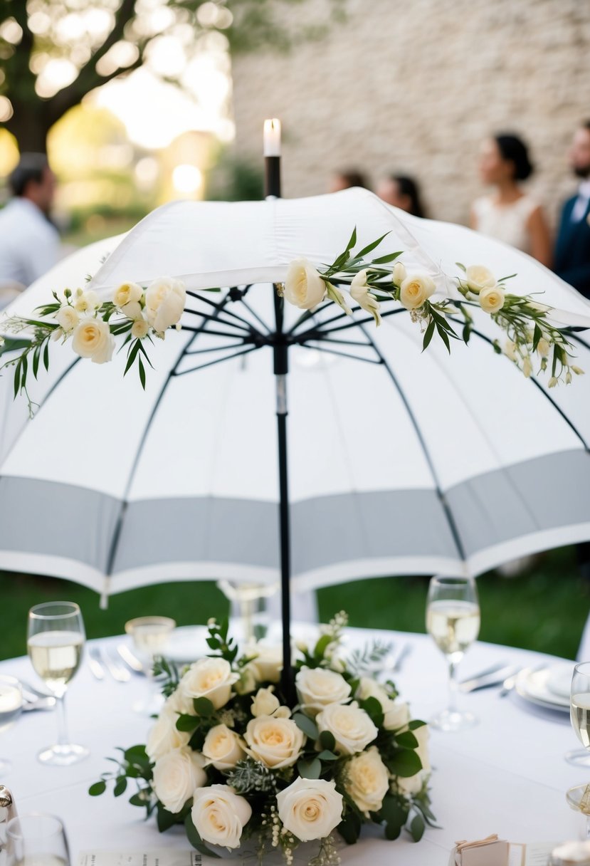
M314 4L324 0L312 0ZM567 150L590 118L590 0L346 0L345 23L287 55L234 60L236 149L260 158L262 121L284 128L284 194L330 172L419 178L431 216L467 222L478 146L514 131L555 221L574 190ZM305 5L290 10L297 16Z

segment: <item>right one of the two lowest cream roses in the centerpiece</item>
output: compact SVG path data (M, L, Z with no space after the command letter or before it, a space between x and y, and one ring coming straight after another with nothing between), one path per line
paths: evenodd
M330 836L342 820L343 796L335 782L302 779L277 794L279 818L302 842Z

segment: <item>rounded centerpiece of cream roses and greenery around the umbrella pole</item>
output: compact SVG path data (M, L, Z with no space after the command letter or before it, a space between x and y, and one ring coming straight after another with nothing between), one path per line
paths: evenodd
M123 750L90 793L112 780L119 796L135 780L131 804L156 811L159 830L184 824L209 855L209 845L240 853L253 843L260 861L279 849L289 864L299 843L315 842L310 862L329 866L339 862L334 834L354 843L368 823L388 839L406 828L419 841L433 823L427 727L410 718L392 682L375 679L388 646L343 656L345 624L338 614L315 646L299 646L289 706L280 648L240 654L228 624L211 621L208 656L180 678L160 663L167 696L147 744Z

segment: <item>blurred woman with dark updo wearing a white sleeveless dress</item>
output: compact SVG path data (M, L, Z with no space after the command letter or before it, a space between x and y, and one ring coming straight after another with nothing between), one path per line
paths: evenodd
M484 141L479 175L495 187L471 206L471 228L551 264L551 240L541 204L521 189L533 173L527 146L516 135L496 135Z

